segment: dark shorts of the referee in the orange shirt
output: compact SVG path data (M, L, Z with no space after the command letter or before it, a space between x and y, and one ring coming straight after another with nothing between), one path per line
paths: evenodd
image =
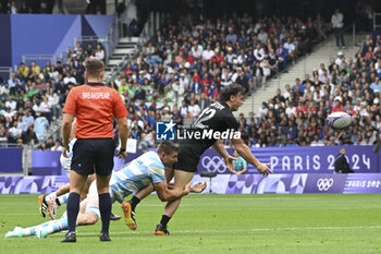
M114 167L115 143L112 138L78 138L73 147L71 169L87 176L107 177Z

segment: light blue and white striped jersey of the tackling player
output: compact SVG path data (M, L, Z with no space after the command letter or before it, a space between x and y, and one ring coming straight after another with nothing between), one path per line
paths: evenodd
M150 183L165 182L164 165L155 152L147 152L114 172L110 189L119 202Z

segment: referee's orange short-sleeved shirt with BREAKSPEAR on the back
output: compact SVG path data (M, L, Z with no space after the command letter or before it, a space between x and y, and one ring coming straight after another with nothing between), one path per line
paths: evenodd
M62 111L76 114L76 138L113 137L112 117L128 114L120 94L102 83L72 88Z

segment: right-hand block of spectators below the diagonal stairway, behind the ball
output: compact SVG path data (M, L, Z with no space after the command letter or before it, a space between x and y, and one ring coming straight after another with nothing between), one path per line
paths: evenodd
M381 132L381 36L368 35L357 53L337 52L327 66L286 84L263 101L258 118L239 116L241 130L256 147L295 145L373 145ZM353 124L334 131L324 125L331 112L347 112Z

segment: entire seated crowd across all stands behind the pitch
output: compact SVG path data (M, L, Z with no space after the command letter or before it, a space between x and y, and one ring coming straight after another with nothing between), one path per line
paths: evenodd
M276 78L312 44L327 34L319 15L263 17L247 14L226 21L169 21L142 48L139 55L108 84L118 89L130 112L131 137L144 146L155 143L157 121L183 124L213 102L221 88L238 83L250 94L266 78ZM101 45L77 44L67 62L44 68L22 63L0 87L0 135L10 143L42 142L41 149L58 147L46 142L49 123L60 116L65 97L84 80L87 58L105 60ZM239 116L241 131L253 146L371 144L372 128L380 122L380 38L367 39L355 59L339 53L311 75L278 90L258 111ZM376 87L376 88L374 88ZM348 111L355 124L332 132L324 126L331 111ZM225 141L229 145L229 141Z

